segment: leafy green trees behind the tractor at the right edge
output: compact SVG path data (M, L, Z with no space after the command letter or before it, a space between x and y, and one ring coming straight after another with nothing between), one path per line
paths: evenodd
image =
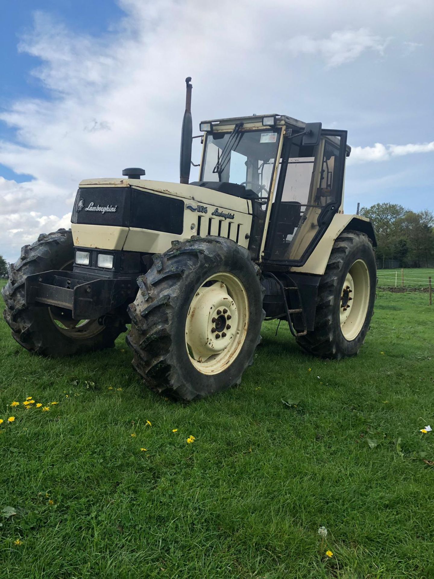
M432 267L434 262L434 213L411 211L396 203L362 207L360 214L374 223L379 265L395 259L400 267Z

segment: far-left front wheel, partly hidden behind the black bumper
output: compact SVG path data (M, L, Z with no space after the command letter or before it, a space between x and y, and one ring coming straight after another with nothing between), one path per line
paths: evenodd
M72 270L74 249L70 230L41 233L32 245L24 245L19 260L9 267L9 281L2 290L6 303L3 317L12 337L25 349L43 356L70 356L113 347L124 324L103 327L97 320L72 320L69 312L50 306L25 305L25 278L49 270Z

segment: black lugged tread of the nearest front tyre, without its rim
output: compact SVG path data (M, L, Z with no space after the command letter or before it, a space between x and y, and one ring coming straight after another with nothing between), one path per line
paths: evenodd
M196 387L199 389L197 390L193 384L182 380L177 367L179 360L176 359L172 347L173 326L179 304L185 299L185 278L201 272L205 264L218 266L228 248L245 259L246 267L251 268L252 275L259 280L259 267L251 261L249 252L234 241L215 236L196 236L183 243L173 242L170 250L153 257L153 266L144 276L138 278L137 298L128 307L131 330L126 342L134 352L134 368L151 390L185 401L209 394L200 391L199 386ZM263 293L260 285L260 296ZM261 297L259 301L262 323L265 312L262 309ZM185 340L185 334L183 339ZM260 325L255 348L259 342ZM254 351L253 349L244 367L231 376L224 388L241 382L242 372L253 364ZM238 355L240 356L241 354Z

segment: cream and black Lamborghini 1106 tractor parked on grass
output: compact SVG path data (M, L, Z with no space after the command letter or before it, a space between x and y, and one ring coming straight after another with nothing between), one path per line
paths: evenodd
M61 357L127 331L150 389L191 401L239 384L263 320L308 354L354 356L376 297L372 223L345 215L347 131L285 115L200 123L186 79L180 182L141 168L79 184L71 229L21 250L4 317L25 349Z

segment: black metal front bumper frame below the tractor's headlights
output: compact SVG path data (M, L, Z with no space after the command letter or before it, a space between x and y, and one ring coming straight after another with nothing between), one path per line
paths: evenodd
M73 320L95 320L133 301L135 291L137 284L131 277L53 270L26 278L25 303L71 310Z

